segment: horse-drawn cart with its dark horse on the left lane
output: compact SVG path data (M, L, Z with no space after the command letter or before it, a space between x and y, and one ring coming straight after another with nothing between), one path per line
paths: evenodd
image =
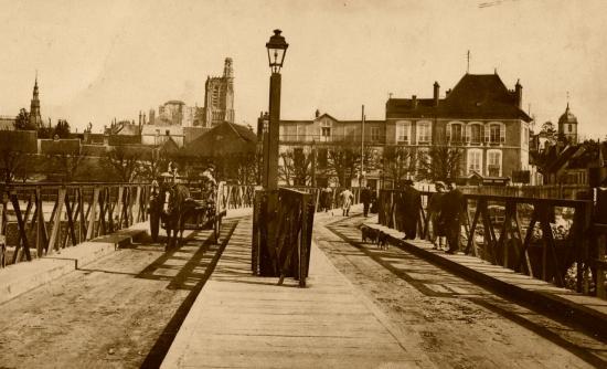
M203 179L177 178L152 183L152 193L148 207L150 234L158 240L160 228L167 231L167 247L174 247L183 238L183 231L213 230L219 242L220 230L226 210L221 193L225 182L215 183Z

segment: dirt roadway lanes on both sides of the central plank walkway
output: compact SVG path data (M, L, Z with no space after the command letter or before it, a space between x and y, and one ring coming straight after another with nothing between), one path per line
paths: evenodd
M607 345L578 329L397 247L362 244L364 220L320 215L315 241L390 319L404 355L438 368L607 366ZM146 242L0 305L0 368L159 366L237 222L224 222L223 244L209 231L170 253Z

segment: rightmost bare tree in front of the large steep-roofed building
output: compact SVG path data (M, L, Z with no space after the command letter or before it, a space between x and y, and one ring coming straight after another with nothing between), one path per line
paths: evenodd
M460 172L461 149L447 145L433 146L428 152L418 152L418 177L432 181L455 178Z

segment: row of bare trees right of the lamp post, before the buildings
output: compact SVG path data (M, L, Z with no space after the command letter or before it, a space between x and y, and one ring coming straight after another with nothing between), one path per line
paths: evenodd
M461 172L462 150L450 146L433 146L427 151L402 146L387 146L383 150L342 144L311 149L289 149L280 154L279 176L287 186L311 186L313 178L334 178L345 187L361 172L382 170L383 177L400 182L407 177L419 180L446 180Z

